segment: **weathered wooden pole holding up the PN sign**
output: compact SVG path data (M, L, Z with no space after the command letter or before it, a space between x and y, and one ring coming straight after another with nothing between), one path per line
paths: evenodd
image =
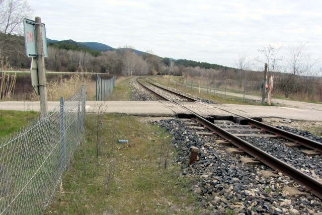
M48 113L47 106L47 83L44 59L44 47L42 41L42 24L40 17L35 17L35 33L37 44L37 64L38 64L38 80L39 80L39 96L40 96L40 114L42 117Z

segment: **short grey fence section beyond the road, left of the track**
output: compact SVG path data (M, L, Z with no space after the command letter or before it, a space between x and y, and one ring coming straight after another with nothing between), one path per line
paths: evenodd
M96 101L105 101L115 87L115 76L108 80L103 80L96 74Z

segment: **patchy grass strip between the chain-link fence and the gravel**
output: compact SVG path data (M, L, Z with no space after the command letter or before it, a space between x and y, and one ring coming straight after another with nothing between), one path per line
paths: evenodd
M190 191L190 179L181 176L180 167L171 162L176 152L169 134L135 116L104 114L99 117L104 130L97 157L97 117L87 116L85 140L47 214L200 213L200 208L194 206L196 197ZM128 139L130 145L118 149L124 144L118 144L117 139ZM109 178L110 166L114 174Z

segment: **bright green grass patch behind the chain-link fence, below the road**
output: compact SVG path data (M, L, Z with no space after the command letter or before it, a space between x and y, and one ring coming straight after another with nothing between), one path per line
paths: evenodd
M39 114L35 111L0 110L0 137L19 130Z

